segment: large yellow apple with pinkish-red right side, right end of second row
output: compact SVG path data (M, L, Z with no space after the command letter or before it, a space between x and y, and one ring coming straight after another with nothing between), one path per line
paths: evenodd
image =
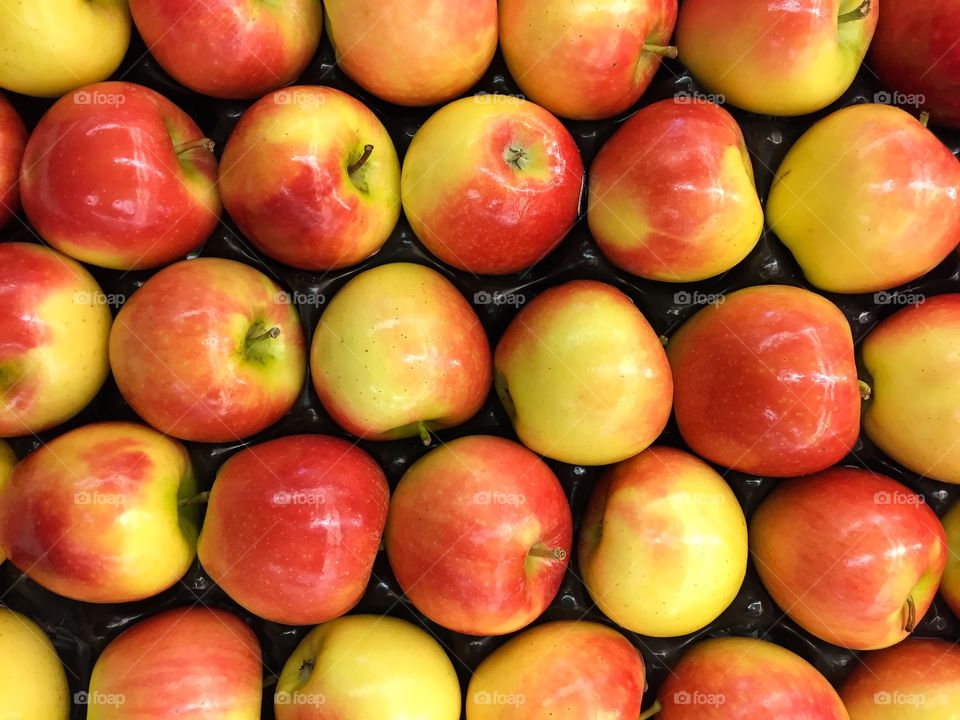
M960 162L916 118L853 105L790 148L766 217L813 285L875 292L915 280L956 248L958 196Z

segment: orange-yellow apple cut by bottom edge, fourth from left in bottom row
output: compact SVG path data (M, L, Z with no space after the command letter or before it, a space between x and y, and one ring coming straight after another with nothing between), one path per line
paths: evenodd
M525 630L480 663L467 720L636 720L645 668L605 625L562 621Z

